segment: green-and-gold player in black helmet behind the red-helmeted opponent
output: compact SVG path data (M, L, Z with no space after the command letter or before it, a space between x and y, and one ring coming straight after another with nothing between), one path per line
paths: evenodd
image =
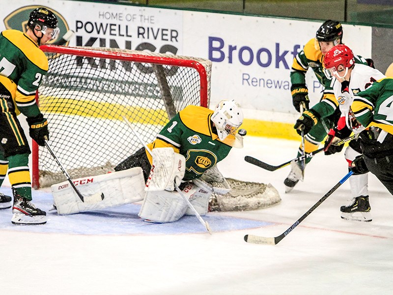
M300 104L303 104L305 112L297 120L295 129L300 126L304 128L305 146L304 151L310 153L318 149L319 144L326 137L331 128L337 125L340 117L338 102L333 90L332 77L323 67L326 54L334 46L342 44L342 27L337 21L327 20L317 30L315 38L309 40L304 49L295 57L290 74L292 83L292 99L296 110L300 111ZM364 59L355 56L356 63L363 63L372 66L372 59ZM306 72L311 67L316 78L324 87L320 102L309 110L308 89L306 86ZM307 122L306 122L307 120ZM299 135L301 131L298 130ZM298 151L298 156L302 153L302 147ZM306 159L309 163L311 157ZM301 164L301 163L299 163ZM296 167L295 167L296 168ZM302 179L302 175L296 173L299 169L291 169L289 175L284 180L285 192L289 192Z

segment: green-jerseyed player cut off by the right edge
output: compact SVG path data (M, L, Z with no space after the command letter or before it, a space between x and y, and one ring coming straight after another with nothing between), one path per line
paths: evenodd
M362 156L352 163L356 174L373 173L393 195L393 78L384 78L356 94L351 109L369 128L360 133Z

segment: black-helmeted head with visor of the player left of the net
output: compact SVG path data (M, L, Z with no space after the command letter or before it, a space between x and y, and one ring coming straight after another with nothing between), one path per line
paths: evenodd
M33 31L34 36L38 38L38 45L40 45L41 38L44 35L53 40L57 38L59 33L56 15L45 7L38 7L30 12L28 27ZM37 36L35 30L40 31L42 36Z

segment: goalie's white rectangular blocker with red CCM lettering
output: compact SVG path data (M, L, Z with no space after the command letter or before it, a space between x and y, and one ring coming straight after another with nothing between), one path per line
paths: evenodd
M186 171L186 159L173 148L153 148L153 163L146 181L146 191L172 191L179 186Z

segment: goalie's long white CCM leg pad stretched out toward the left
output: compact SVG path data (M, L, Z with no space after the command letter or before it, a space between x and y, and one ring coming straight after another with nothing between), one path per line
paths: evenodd
M54 184L51 189L58 214L65 215L121 206L141 201L144 196L144 178L140 167L78 178L73 181L83 196L102 192L104 200L96 204L87 204L81 201L68 181Z

